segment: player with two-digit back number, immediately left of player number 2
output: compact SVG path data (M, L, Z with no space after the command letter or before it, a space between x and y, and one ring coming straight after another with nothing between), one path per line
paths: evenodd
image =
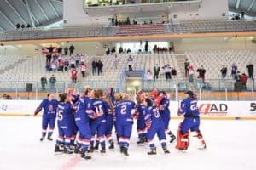
M106 129L106 119L105 115L107 114L108 108L106 108L106 105L104 105L104 102L102 100L103 98L103 91L102 90L96 90L95 92L95 99L92 100L89 110L93 110L94 113L97 115L96 118L93 118L90 120L90 130L92 136L96 136L97 139L99 139L99 142L101 144L101 153L106 152L106 142L105 142L105 129ZM90 149L93 148L94 141L90 141ZM92 151L92 150L91 150Z

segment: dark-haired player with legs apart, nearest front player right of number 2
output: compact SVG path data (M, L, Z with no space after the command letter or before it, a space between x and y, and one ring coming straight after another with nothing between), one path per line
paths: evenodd
M153 106L153 102L149 98L144 99L143 105L146 107L144 112L145 122L148 128L147 139L148 146L151 149L151 151L148 152L148 155L156 155L156 147L153 141L155 134L157 134L165 154L169 154L170 152L167 150L166 146L165 126L158 109Z

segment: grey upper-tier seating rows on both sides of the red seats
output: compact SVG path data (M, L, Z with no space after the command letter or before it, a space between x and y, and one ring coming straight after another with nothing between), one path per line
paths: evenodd
M190 21L186 23L165 24L163 34L180 34L180 33L207 33L207 32L230 32L230 31L256 31L255 21L228 21L228 20L213 20L205 21ZM132 25L130 25L132 26ZM0 33L0 41L12 40L38 40L38 39L60 39L60 38L79 38L79 37L115 37L122 36L116 34L121 29L119 26L82 26L82 27L65 27L59 29L43 30L14 30L3 31ZM129 35L152 35L155 32L136 31L128 32Z

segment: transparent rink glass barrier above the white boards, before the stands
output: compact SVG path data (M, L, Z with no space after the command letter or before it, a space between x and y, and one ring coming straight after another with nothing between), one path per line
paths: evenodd
M27 84L32 84L32 92L26 92ZM68 82L57 81L55 87L52 88L48 82L45 89L42 89L39 81L0 81L0 98L3 95L9 95L11 99L44 99L48 93L57 94L66 92L67 88L74 88L79 94L84 94L85 87L101 88L108 93L110 87L114 91L129 92L128 85L125 81L125 71L120 75L119 80L88 80L85 78L83 82L72 84L71 80ZM221 88L219 88L221 87ZM132 94L135 95L137 90ZM184 92L188 89L193 90L198 96L199 100L224 100L224 101L243 101L255 99L255 88L253 82L247 82L247 90L239 92L234 91L233 80L206 80L202 83L201 80L195 80L190 83L187 80L179 80L173 78L172 80L142 80L141 88L143 92L150 93L155 88L158 90L165 90L170 95L170 100L179 101L185 97ZM9 99L10 99L9 98Z

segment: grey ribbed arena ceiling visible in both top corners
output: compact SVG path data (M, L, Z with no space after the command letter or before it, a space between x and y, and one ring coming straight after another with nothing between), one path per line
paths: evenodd
M229 0L230 11L256 16L256 0ZM63 19L63 0L0 0L0 31L16 24L48 26Z

